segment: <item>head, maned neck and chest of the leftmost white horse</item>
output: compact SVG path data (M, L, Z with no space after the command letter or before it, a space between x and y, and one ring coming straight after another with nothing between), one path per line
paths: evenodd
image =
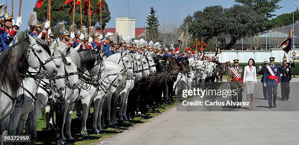
M0 55L0 64L0 120L13 111L23 74L26 74L29 66L46 72L50 78L57 75L49 47L41 39L33 39L28 34L23 41L10 46Z

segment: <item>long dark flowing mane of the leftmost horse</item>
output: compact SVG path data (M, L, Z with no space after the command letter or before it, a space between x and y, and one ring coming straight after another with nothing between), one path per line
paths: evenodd
M13 96L17 93L29 68L27 61L28 39L19 41L10 46L0 55L0 87L10 89Z

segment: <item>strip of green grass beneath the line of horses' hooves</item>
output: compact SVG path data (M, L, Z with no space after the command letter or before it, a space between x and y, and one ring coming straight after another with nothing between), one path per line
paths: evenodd
M174 98L175 99L175 98ZM156 110L160 111L161 113L165 112L166 110L176 106L178 103L175 102L172 104L163 104L160 105ZM91 113L93 112L93 108L91 108ZM118 114L118 113L117 113ZM125 130L129 129L130 127L136 124L142 124L148 122L148 120L152 117L158 116L160 113L154 113L150 110L148 113L145 114L143 117L135 117L133 121L126 122L122 124L120 127L116 128L105 128L103 133L101 134L94 134L92 128L92 117L87 119L87 132L89 134L89 140L83 140L81 135L81 120L78 120L76 116L76 111L72 113L72 124L71 124L71 132L72 136L75 138L76 143L74 145L86 145L92 144L94 142L101 142L107 138L115 136L117 133L124 132ZM65 127L64 127L65 128ZM54 131L45 131L45 120L42 116L39 117L38 120L38 132L37 132L37 144L38 145L56 145L55 139L55 132Z

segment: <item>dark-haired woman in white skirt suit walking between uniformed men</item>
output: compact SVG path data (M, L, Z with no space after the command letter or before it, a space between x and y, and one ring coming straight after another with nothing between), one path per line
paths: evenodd
M248 65L245 66L244 68L243 82L246 86L247 101L250 102L247 109L251 110L253 109L252 102L253 102L254 88L257 85L255 60L249 59L247 64Z

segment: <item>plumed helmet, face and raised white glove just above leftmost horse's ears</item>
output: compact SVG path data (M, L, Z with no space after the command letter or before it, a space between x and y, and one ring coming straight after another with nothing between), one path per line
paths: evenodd
M44 40L47 30L50 26L50 22L49 21L45 22L43 31L42 31L42 24L37 20L36 12L32 12L29 17L29 20L28 20L28 26L30 27L29 35L31 37L35 38L35 37L38 37L39 35L41 35L42 40Z

